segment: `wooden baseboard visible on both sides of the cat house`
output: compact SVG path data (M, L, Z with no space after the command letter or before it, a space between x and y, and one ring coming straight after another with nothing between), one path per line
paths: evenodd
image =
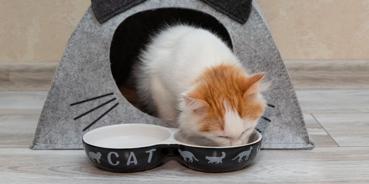
M0 63L0 91L46 91L58 62ZM369 60L287 60L296 89L369 89Z

